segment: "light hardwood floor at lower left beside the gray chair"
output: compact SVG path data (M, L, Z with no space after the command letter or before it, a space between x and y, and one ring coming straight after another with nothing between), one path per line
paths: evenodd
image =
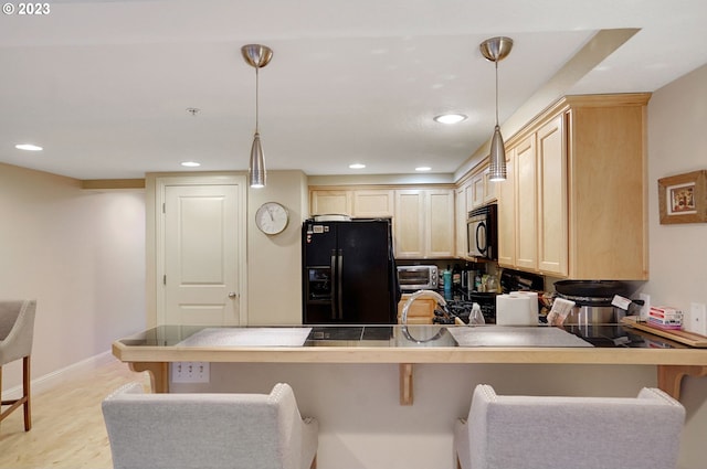
M0 424L0 469L113 468L101 402L124 383L149 388L147 373L112 361L41 393L32 393L32 429L22 411Z

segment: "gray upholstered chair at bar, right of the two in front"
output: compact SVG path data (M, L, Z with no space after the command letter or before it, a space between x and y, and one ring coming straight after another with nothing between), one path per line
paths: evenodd
M639 397L498 396L474 391L454 429L463 469L673 469L685 408L655 388Z

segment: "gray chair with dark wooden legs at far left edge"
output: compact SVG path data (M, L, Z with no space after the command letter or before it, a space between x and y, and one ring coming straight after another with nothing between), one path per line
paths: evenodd
M34 300L0 301L0 394L2 393L2 366L22 359L22 397L6 401L0 397L3 406L10 406L0 412L0 422L11 412L24 406L25 431L32 428L30 355L36 301Z

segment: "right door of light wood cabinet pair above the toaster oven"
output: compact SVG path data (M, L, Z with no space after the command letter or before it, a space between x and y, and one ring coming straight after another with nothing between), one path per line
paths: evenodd
M425 191L426 257L454 257L454 191Z

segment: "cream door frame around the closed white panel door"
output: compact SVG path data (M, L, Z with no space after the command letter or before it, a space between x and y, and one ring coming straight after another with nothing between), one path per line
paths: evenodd
M236 185L239 188L239 226L236 227L236 253L239 256L239 324L247 323L247 189L246 177L242 173L209 174L148 174L146 177L146 301L147 327L165 322L165 204L166 188L169 185Z

